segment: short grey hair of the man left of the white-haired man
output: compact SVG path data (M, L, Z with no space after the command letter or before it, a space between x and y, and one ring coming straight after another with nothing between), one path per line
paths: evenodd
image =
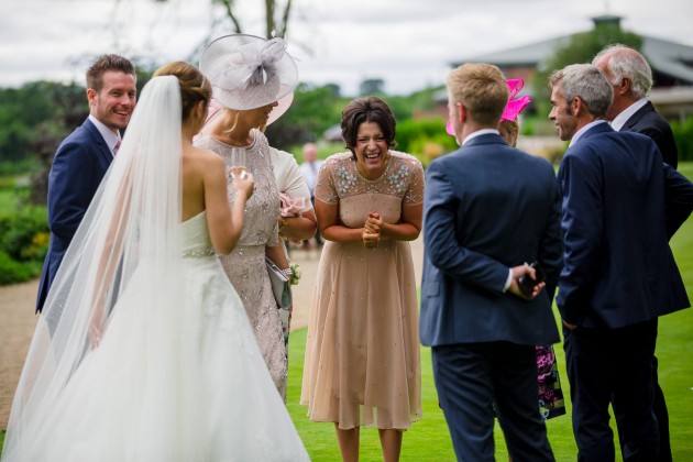
M554 70L549 77L551 87L560 85L568 102L579 97L592 116L604 117L614 99L614 88L604 74L591 64L572 64Z

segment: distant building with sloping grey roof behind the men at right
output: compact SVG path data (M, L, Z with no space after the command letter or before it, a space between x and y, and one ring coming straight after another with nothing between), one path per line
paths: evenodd
M620 26L620 16L601 15L592 19L595 26L602 24ZM654 38L642 37L641 52L650 63L654 85L650 100L658 110L668 118L682 119L693 113L693 46ZM528 85L538 69L543 70L546 61L562 46L572 35L536 42L516 48L452 63L458 67L464 63L490 63L498 66L507 78L521 78ZM526 88L527 89L527 88Z

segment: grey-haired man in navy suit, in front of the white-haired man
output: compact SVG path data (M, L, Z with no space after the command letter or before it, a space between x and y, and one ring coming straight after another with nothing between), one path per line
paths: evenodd
M571 141L558 175L564 266L557 305L579 460L615 459L612 403L624 460L654 461L657 318L690 306L668 230L691 213L693 185L662 162L651 139L606 123L613 88L595 66L556 72L551 87L549 118Z

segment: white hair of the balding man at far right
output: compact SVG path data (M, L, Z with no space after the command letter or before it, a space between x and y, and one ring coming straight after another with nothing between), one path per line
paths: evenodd
M645 98L652 88L652 69L645 57L637 50L619 43L604 47L592 59L596 65L600 61L606 61L607 79L610 76L612 85L620 85L624 78L630 80L630 92L637 99Z

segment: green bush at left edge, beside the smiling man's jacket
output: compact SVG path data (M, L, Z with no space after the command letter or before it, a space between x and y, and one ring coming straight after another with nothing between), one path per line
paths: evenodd
M23 207L0 215L0 285L38 276L50 237L45 207Z

